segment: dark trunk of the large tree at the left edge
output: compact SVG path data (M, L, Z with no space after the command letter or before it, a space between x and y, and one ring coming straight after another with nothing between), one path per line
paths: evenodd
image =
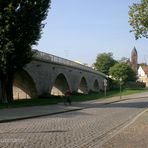
M0 72L0 102L10 103L13 100L13 73Z

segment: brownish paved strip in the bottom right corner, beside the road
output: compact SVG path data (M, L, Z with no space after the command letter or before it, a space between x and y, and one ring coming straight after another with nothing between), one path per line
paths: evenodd
M148 147L148 111L133 124L111 138L102 148L147 148Z

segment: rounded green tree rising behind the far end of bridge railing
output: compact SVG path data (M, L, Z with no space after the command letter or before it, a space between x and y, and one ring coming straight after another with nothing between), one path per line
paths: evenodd
M101 53L98 54L94 66L98 71L108 75L110 67L112 67L115 63L116 61L113 59L112 53Z

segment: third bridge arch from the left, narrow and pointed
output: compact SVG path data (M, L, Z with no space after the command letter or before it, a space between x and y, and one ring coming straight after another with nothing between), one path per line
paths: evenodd
M85 77L82 77L78 87L78 93L87 94L88 93L88 84Z

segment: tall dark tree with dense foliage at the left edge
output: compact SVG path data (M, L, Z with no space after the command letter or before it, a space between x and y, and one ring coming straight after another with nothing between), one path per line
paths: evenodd
M0 102L13 100L14 73L31 61L50 0L0 1Z

